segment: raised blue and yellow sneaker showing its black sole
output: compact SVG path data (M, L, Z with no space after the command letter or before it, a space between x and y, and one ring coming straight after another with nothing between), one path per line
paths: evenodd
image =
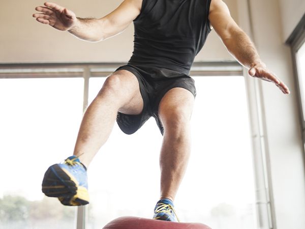
M63 163L53 164L42 181L42 192L57 197L63 205L89 204L87 169L78 157L68 157Z

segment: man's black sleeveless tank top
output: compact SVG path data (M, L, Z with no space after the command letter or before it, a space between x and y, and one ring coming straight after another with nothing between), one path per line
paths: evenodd
M210 32L211 0L143 0L134 19L134 51L128 64L189 75ZM154 71L154 70L153 70ZM173 73L173 74L171 74Z

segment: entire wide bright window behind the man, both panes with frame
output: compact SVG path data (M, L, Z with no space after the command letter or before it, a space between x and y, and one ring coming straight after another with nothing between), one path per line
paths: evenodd
M153 118L134 135L114 126L88 169L90 204L78 208L86 209L86 223L83 214L76 223L77 208L64 207L41 192L45 170L71 155L84 107L119 65L0 68L0 152L6 162L0 167L6 175L0 187L1 228L94 229L118 216L153 216L162 143ZM223 65L192 68L197 88L193 149L176 211L181 221L215 229L254 229L258 226L245 81L239 65Z

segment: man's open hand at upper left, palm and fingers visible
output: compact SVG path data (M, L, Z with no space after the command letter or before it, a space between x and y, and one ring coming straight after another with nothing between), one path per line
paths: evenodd
M55 3L45 3L44 5L36 7L36 10L41 13L33 14L33 17L40 23L49 24L61 31L68 31L76 24L77 18L72 11Z

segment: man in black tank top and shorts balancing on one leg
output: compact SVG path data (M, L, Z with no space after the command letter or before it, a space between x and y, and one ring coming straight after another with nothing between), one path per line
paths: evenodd
M190 154L190 118L196 96L189 76L195 55L212 27L249 74L289 89L267 70L249 37L222 0L125 0L100 19L77 18L54 3L37 7L37 21L85 41L102 41L134 22L133 55L105 81L87 108L74 155L46 171L42 190L64 205L88 204L86 167L107 140L115 120L132 134L153 116L164 135L160 156L161 196L155 219L178 221L173 201Z

